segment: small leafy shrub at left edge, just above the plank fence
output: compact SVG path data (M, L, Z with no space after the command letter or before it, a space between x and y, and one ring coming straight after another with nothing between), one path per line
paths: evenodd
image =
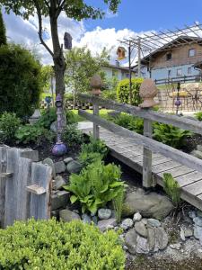
M3 143L15 141L15 131L20 127L21 120L15 113L4 112L0 117L0 140Z

